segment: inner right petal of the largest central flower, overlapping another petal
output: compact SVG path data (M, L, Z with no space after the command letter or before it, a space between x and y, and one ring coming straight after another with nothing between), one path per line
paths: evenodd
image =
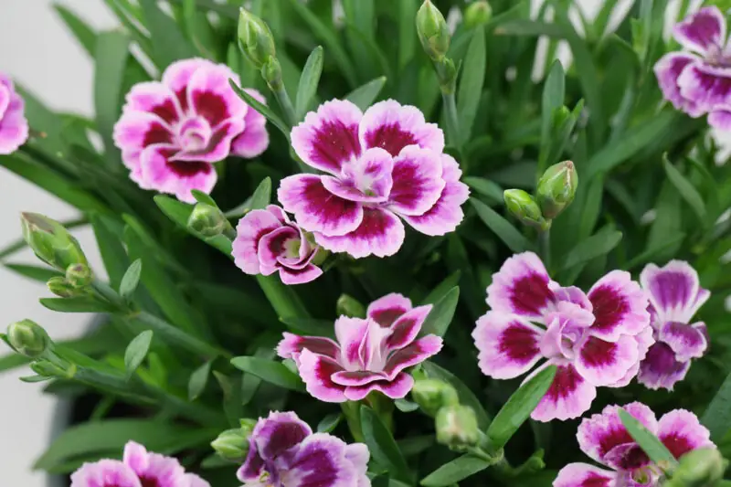
M446 183L440 154L416 145L405 147L394 160L388 207L401 215L423 215L440 199Z

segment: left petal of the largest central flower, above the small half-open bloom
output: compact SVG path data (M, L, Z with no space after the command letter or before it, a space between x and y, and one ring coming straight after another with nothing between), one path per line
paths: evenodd
M363 206L334 196L325 189L319 175L285 177L277 196L285 211L293 213L307 231L339 236L354 231L363 222Z

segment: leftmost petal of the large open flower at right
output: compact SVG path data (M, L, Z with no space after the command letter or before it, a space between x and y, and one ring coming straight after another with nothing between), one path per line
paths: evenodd
M540 340L544 331L520 316L487 312L472 332L480 351L482 374L496 379L521 376L542 358Z

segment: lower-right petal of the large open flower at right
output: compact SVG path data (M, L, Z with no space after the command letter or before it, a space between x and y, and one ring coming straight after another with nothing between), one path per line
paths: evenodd
M594 386L607 386L624 377L640 362L637 340L622 335L616 342L605 342L596 336L579 345L575 365L577 372Z

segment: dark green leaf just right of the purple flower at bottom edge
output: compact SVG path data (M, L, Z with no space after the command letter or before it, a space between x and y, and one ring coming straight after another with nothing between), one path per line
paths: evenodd
M385 468L391 476L411 484L411 474L408 464L401 450L398 450L396 440L388 431L376 412L365 406L360 408L361 427L363 437L371 457L376 463Z

